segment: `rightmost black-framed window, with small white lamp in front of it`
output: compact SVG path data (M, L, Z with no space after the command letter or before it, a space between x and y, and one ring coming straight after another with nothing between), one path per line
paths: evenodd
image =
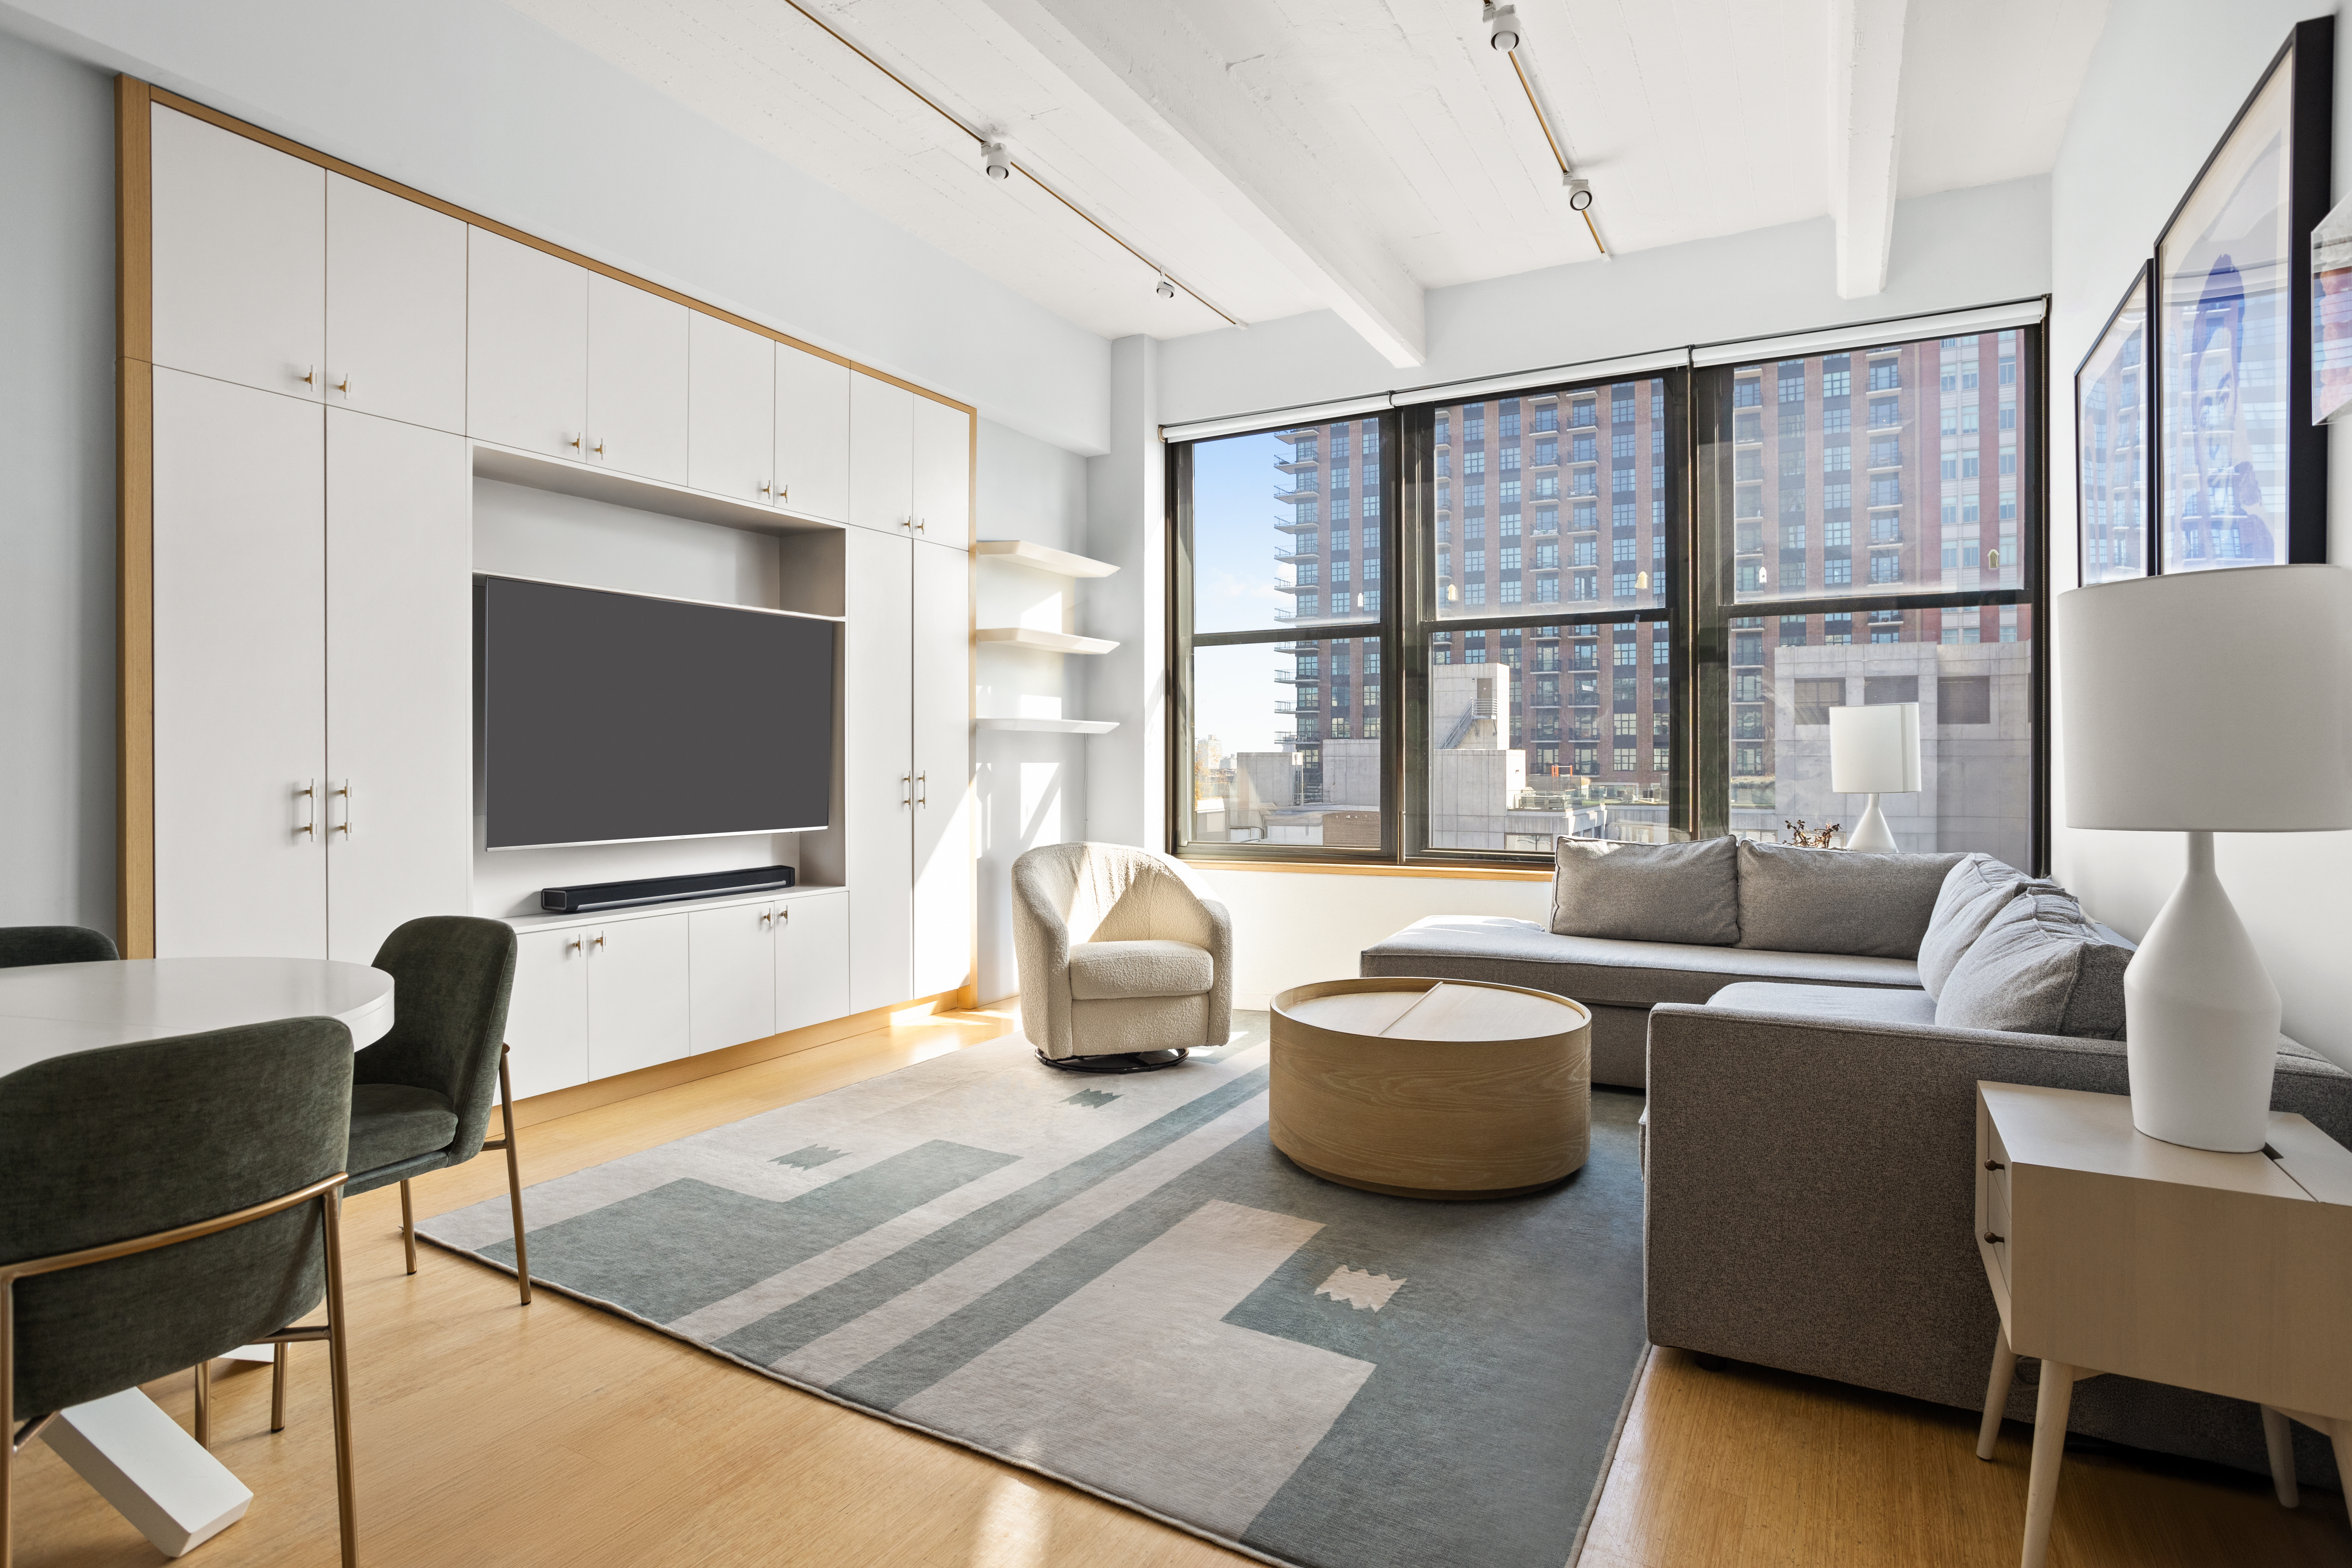
M1724 670L1700 684L1703 818L1851 827L1828 710L1919 703L1896 842L2034 865L2039 386L2025 329L1698 371L1700 536L1729 567L1698 607Z

